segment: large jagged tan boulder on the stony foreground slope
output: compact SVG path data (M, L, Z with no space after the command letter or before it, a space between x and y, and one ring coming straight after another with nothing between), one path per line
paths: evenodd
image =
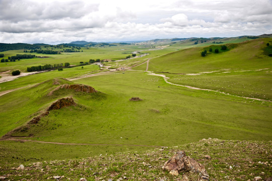
M205 166L198 163L193 158L186 156L184 151L178 151L163 165L163 170L168 170L170 174L177 175L180 172L196 172L202 179L209 180Z

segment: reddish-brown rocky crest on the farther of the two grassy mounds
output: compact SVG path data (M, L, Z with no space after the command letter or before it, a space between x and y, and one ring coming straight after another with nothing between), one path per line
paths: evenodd
M97 93L96 89L89 85L84 85L84 84L63 84L60 85L56 88L54 88L52 91L48 93L48 96L52 96L55 91L58 89L65 88L65 89L73 89L76 92L84 92L84 93Z

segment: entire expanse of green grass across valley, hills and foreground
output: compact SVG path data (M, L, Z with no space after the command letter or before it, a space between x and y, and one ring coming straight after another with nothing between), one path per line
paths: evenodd
M24 131L12 133L13 136L16 136L16 139L23 139L24 141L0 141L0 149L3 150L0 153L0 166L4 168L5 165L5 168L0 170L0 174L12 173L15 175L12 178L17 179L19 173L10 170L11 167L22 163L32 164L32 162L54 159L79 159L128 150L146 152L147 149L154 146L171 147L165 152L168 155L169 152L172 153L175 150L173 146L187 144L180 148L183 149L185 146L197 159L201 160L200 157L204 154L203 152L214 154L215 160L206 162L211 167L213 178L225 180L227 179L227 177L225 178L226 175L229 175L229 178L239 175L241 180L251 178L252 175L244 175L248 175L250 170L253 169L252 166L249 166L250 169L245 166L242 173L238 173L239 168L235 168L237 170L233 175L225 168L228 163L238 164L240 162L239 164L245 165L246 163L242 160L245 154L239 155L241 160L234 161L235 158L232 158L232 161L227 161L222 157L233 153L227 145L226 154L218 154L221 153L223 147L222 149L212 149L208 145L203 147L203 144L189 143L209 137L222 140L264 141L263 143L254 141L242 143L246 143L245 146L250 144L262 145L269 152L267 146L269 147L269 141L272 138L270 133L272 129L272 103L268 102L268 100L272 99L271 58L263 54L263 48L266 46L266 42L269 41L271 39L255 39L237 44L226 44L229 48L227 51L221 51L218 54L208 53L206 57L201 57L200 52L209 48L210 45L208 44L210 42L207 42L206 45L208 46L184 49L185 44L188 43L184 41L180 43L180 46L179 43L176 43L164 49L150 50L150 47L137 46L137 48L129 45L125 48L121 48L121 46L104 48L105 50L99 48L99 51L105 52L101 53L101 56L98 56L99 51L90 49L85 51L83 49L83 52L71 53L75 59L69 59L70 55L64 54L54 55L55 59L52 58L53 56L42 59L48 61L48 63L73 63L73 59L76 64L83 57L86 60L91 58L104 59L103 57L118 59L121 58L125 51L129 53L132 50L139 49L144 49L142 53L149 53L144 57L105 63L105 66L110 66L110 68L127 67L129 69L132 66L134 70L101 74L101 72L107 70L100 70L98 65L87 65L84 68L65 68L63 71L54 70L0 83L0 92L29 85L0 97L0 136L18 127L27 127L27 129L23 129ZM192 45L193 42L189 43L187 47L194 46ZM202 45L205 45L205 43ZM212 46L214 49L215 46L220 47L221 45ZM125 50L119 52L115 51L116 48ZM110 49L111 51L109 51ZM182 50L176 51L177 49ZM76 58L76 55L80 56ZM57 58L57 56L59 57ZM139 64L147 61L147 59L150 59L149 70L165 74L170 77L170 82L219 90L234 96L171 85L165 82L162 77L144 72L147 66L146 63ZM35 64L36 60L25 60L25 62L29 61L29 64L24 64L24 60L14 63L20 64L20 67L24 69L26 66ZM16 66L14 64L2 68L2 70L14 69ZM73 78L98 72L100 73L99 76L90 76L73 81L60 78ZM54 82L59 82L59 84L86 84L94 87L99 93L87 94L70 89L59 89L52 96L48 96L48 93L58 86ZM235 96L254 97L266 101L252 101ZM52 110L38 124L27 124L33 117L45 111L52 102L63 97L73 97L77 106ZM131 102L129 101L131 97L139 97L143 101ZM67 145L42 143L41 141L67 143ZM233 147L238 145L238 143L232 141L226 142ZM75 143L75 145L71 143ZM191 147L188 145L191 145ZM194 149L199 152L193 153L192 150ZM253 154L253 152L250 154ZM159 152L157 153L159 154ZM270 155L270 152L268 155L260 154L256 159L265 161ZM122 154L120 153L119 156L122 157ZM143 160L148 159L145 156L143 157ZM150 170L151 174L144 176L144 174L137 172L138 176L141 175L139 178L149 179L154 176L153 173L156 173L161 177L173 179L168 173L161 173L159 165L167 159L167 157L164 158L161 161L154 162L156 166L152 169L141 167L143 170ZM70 160L67 164L76 162L75 169L78 169L77 166L80 165L78 162L81 162L78 159ZM256 161L253 160L254 163ZM103 179L109 177L111 173L115 174L115 172L113 178L122 176L126 172L127 177L132 179L135 176L132 172L128 173L126 169L123 169L124 172L120 171L122 165L128 166L127 169L135 169L134 166L139 165L139 163L135 162L135 165L127 165L124 162L119 165L119 162L124 162L124 160L112 162L112 167L107 168L111 171L101 172L98 170L100 166L93 169L94 172L99 172ZM60 162L52 162L53 165L55 163L59 164ZM46 167L46 164L43 166ZM63 164L66 164L66 162L64 161ZM105 163L91 161L85 164L100 165ZM256 165L254 164L254 166ZM51 179L50 176L53 174L64 173L72 177L74 174L59 171L57 165L54 165L54 168L57 169L55 171L50 170L43 178L49 177ZM270 167L264 169L266 177L269 176L267 174L269 169ZM222 174L217 173L220 170L224 172ZM260 170L256 173L261 172ZM34 172L34 170L31 172ZM21 175L27 173L28 171L24 172L24 174L21 173ZM98 179L95 175L90 176L90 174L93 174L92 171L85 170L83 173L81 177L88 174L89 180ZM75 172L75 174L77 173ZM41 177L41 172L37 172L36 175Z

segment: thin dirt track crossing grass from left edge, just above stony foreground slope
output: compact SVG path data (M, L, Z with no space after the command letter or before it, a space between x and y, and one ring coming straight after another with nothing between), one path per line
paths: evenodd
M2 139L7 141L21 141L21 142L36 142L36 143L48 143L48 144L59 144L59 145L92 145L92 146L138 146L138 147L162 147L156 145L131 145L131 144L98 144L98 143L58 143L58 142L47 142L47 141L37 141L37 140L25 140L17 138Z

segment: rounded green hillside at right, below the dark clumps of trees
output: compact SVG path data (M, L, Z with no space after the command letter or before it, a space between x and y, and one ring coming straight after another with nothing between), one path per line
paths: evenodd
M200 55L200 52L203 51L202 47L188 48L151 59L149 70L171 73L198 73L220 69L271 68L271 57L264 55L262 50L269 40L269 38L265 38L242 42L236 48L218 54L210 54L208 51L206 57ZM145 67L145 65L142 65L135 67L135 69L145 70Z

